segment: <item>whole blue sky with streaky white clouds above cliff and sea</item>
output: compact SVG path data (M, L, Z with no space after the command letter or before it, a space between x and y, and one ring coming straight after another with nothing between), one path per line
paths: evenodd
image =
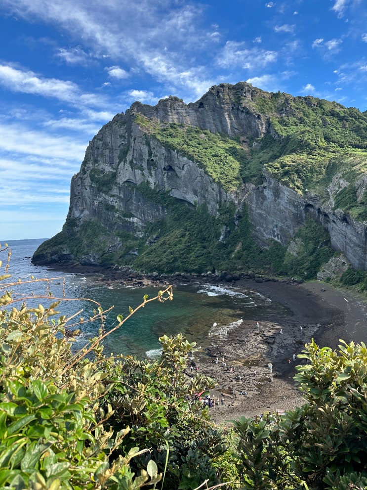
M367 110L366 0L0 0L0 239L51 237L88 141L219 83Z

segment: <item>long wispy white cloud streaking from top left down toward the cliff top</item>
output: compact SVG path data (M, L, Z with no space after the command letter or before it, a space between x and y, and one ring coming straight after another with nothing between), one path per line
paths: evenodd
M184 87L196 93L199 85L207 88L213 83L207 80L206 74L201 80L198 76L195 80L182 76L184 72L193 74L201 70L200 66L195 66L193 51L199 55L208 45L217 44L216 35L207 36L205 30L197 28L204 8L199 3L173 0L109 0L104 3L97 0L2 0L2 3L17 16L32 22L41 19L66 31L72 40L82 39L93 56L123 60L168 84L175 92ZM167 46L167 50L162 46ZM158 64L152 61L157 58ZM204 70L201 71L203 75ZM123 72L116 74L121 77Z

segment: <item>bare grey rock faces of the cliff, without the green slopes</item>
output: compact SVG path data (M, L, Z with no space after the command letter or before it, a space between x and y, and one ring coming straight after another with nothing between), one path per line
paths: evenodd
M132 104L126 114L115 116L89 142L81 170L72 178L67 222L72 221L74 229L80 229L82 223L92 219L102 223L110 233L109 250L117 250L121 246L118 232L127 231L141 237L147 225L164 219L169 213L162 201L150 199L141 192L139 185L149 183L157 195L167 193L192 209L206 203L209 214L215 217L221 203L233 203L240 214L246 204L253 237L260 246L267 246L269 238L286 246L309 214L329 232L335 250L342 252L353 267L367 269L365 224L353 221L340 211L333 212L330 205L323 207L319 196L298 194L266 172L261 185L245 184L237 192L226 192L194 161L164 147L149 128L135 122L136 114L140 113L153 122L258 138L272 134L272 129L269 118L251 103L255 95L270 96L242 82L212 87L200 100L190 104L172 96L160 100L155 107L140 102ZM332 194L332 189L329 192ZM331 194L329 203L332 203ZM221 241L225 239L225 231ZM88 257L76 257L65 240L56 242L47 252L36 252L34 263L84 260L98 264L100 261L100 252L91 250Z

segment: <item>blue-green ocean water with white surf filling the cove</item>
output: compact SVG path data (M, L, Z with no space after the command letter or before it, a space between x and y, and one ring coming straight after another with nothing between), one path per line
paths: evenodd
M128 314L129 306L135 308L142 303L145 294L151 298L162 289L162 286L142 288L108 285L83 274L55 272L47 267L34 266L31 258L42 241L44 239L7 242L11 249L8 273L12 277L2 281L0 286L3 288L4 282L12 284L7 289L12 289L19 300L19 306L23 301L28 306L39 303L46 306L54 301L48 299L51 292L54 297L65 297L57 308L60 315L69 317L80 312L76 318L88 318L96 308L95 304L88 301L93 300L104 309L114 306L107 315L107 331L117 324L119 314ZM1 255L0 275L4 273L7 259L6 252ZM32 276L37 281L32 281ZM189 342L197 342L198 346L217 345L230 330L250 328L252 321L271 320L282 313L286 314L282 306L250 289L227 284L174 285L173 301L152 302L140 309L104 340L104 352L135 355L139 358L154 357L159 354L160 336L180 332ZM89 338L97 335L99 326L97 322L82 325L74 349L82 348Z

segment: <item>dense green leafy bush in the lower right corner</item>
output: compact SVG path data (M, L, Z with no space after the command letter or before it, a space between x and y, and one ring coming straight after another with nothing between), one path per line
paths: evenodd
M367 348L313 341L295 381L306 403L275 425L233 421L245 489L364 489L367 484Z

